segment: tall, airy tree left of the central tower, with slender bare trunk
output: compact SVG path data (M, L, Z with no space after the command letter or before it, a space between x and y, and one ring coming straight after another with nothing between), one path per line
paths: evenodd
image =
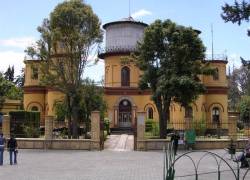
M69 125L77 137L79 88L89 55L102 41L100 21L92 8L81 0L60 3L38 27L36 47L27 48L33 58L42 60L41 82L65 94Z

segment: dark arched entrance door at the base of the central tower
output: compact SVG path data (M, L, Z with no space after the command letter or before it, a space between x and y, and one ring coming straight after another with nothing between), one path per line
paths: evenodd
M119 104L119 126L122 128L131 127L132 113L131 103L123 100Z

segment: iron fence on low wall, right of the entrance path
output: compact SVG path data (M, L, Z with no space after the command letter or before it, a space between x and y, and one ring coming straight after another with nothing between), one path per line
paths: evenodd
M177 131L181 135L185 133L186 130L190 129L195 131L197 139L231 139L233 136L236 136L235 138L237 139L248 139L250 137L249 126L244 126L242 129L239 129L235 123L213 123L202 121L168 122L166 134L171 136L174 131ZM159 132L159 122L151 120L146 121L146 138L158 138Z

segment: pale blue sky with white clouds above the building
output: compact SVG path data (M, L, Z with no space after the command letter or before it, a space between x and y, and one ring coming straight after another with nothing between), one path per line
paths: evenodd
M1 0L0 3L0 71L15 66L18 75L27 46L39 39L37 26L48 18L58 3L64 0ZM247 29L250 23L241 26L224 23L221 6L234 0L85 0L92 6L102 24L129 16L135 20L152 23L156 19L171 19L177 24L192 26L202 31L200 37L211 54L211 25L214 34L214 54L228 56L228 67L239 67L239 57L250 59ZM129 11L130 9L130 11ZM87 67L85 77L100 81L104 74L104 62Z

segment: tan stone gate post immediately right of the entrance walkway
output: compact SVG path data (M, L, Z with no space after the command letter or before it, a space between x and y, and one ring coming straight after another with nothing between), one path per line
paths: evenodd
M146 112L137 112L137 150L145 150L146 145L144 142L144 135L145 135L145 119L146 119Z

